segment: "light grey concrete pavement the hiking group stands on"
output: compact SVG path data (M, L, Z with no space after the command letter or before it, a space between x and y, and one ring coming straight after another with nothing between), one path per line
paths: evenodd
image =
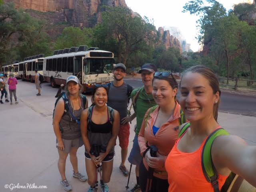
M18 105L0 104L0 191L14 192L63 192L58 172L58 152L55 148L55 135L52 128L52 112L57 88L50 84L42 84L42 96L36 96L35 85L18 80ZM90 101L90 95L87 95ZM223 101L222 101L223 102ZM237 101L234 101L237 102ZM255 105L254 105L255 106ZM248 144L256 145L256 117L219 112L220 125L231 134L242 137ZM135 120L130 124L130 141L128 151L132 147ZM120 147L117 140L115 147L114 167L110 191L125 192L128 177L119 170ZM78 149L78 168L86 175L84 146ZM126 162L126 167L130 164ZM72 177L72 166L69 158L66 162L66 177L74 192L85 192L89 185ZM135 167L129 186L136 182ZM46 186L36 189L35 186ZM23 189L22 189L22 188ZM12 189L12 190L11 190ZM99 191L99 190L98 190Z

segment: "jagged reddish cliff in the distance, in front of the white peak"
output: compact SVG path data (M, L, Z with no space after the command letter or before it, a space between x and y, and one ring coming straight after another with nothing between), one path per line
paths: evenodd
M159 27L158 36L159 36L160 43L164 44L166 49L170 47L174 47L180 50L180 53L182 54L182 47L181 47L180 41L176 37L170 35L169 30L165 31L164 28Z

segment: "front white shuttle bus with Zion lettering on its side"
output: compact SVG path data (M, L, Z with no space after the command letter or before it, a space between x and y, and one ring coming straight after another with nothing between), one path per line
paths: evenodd
M113 80L114 54L98 48L79 46L56 50L44 58L44 80L52 87L64 84L70 75L75 75L84 86L83 92L91 92L96 84Z

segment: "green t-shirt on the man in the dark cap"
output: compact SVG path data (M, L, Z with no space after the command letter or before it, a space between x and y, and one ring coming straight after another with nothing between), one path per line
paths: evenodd
M135 106L133 106L134 108L134 112L136 113L136 135L139 134L140 132L140 127L142 124L142 120L144 118L145 113L147 112L147 110L156 105L156 102L152 96L152 94L147 94L144 90L144 86L142 86L141 88L138 89L134 89L131 93L131 98L133 100L134 96L136 95L136 93L140 91L140 94L138 96L138 99L136 101Z

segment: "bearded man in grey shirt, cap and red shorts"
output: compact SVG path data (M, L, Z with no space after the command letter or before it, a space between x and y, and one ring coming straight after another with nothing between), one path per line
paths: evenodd
M128 154L128 143L130 136L130 125L127 122L127 106L130 99L132 87L124 82L123 78L126 75L126 67L124 64L116 64L113 70L114 81L111 82L108 92L108 106L117 110L120 114L120 128L118 133L119 145L121 147L120 170L124 176L128 176L129 172L124 163Z

